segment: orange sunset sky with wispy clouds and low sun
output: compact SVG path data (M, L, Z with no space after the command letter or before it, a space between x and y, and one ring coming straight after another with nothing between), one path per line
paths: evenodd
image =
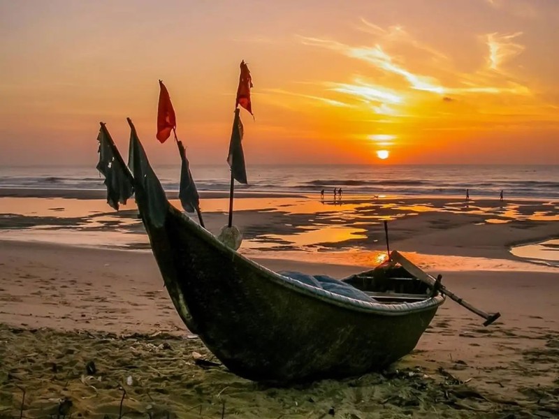
M0 164L94 164L126 117L176 163L159 79L224 163L242 59L247 164L559 164L558 27L557 0L0 0Z

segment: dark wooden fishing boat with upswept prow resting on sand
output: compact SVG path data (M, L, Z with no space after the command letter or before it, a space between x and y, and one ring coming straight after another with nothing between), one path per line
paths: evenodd
M168 202L131 129L136 202L170 299L231 372L282 385L344 378L413 350L445 296L395 263L399 253L342 281L273 272Z

